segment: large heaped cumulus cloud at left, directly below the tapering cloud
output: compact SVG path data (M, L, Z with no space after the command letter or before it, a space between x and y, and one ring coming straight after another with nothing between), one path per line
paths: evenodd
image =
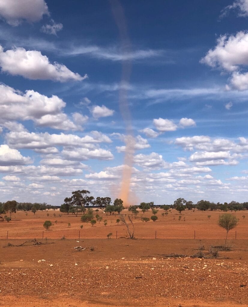
M47 97L33 90L22 93L5 84L0 84L0 106L0 119L7 120L3 125L12 131L26 130L13 120L33 120L38 126L54 129L82 130L81 125L88 119L80 113L73 113L73 123L63 113L66 103L56 95Z

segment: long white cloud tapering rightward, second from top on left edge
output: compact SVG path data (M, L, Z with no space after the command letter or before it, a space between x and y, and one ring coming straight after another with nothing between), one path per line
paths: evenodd
M15 48L3 51L0 46L0 66L2 72L13 76L23 76L31 80L52 80L65 82L69 80L81 81L87 78L70 71L65 65L54 62L51 64L47 56L40 51Z

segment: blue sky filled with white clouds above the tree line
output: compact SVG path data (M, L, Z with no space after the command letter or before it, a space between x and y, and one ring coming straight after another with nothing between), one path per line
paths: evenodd
M248 0L2 0L0 16L2 201L116 198L123 170L129 203L247 200Z

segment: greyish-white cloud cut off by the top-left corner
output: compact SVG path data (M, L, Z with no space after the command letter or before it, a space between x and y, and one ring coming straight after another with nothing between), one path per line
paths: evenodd
M0 15L8 24L17 26L22 20L40 21L49 11L44 0L0 0Z

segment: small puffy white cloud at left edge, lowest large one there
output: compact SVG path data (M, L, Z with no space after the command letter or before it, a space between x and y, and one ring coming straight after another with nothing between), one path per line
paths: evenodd
M23 157L16 149L11 149L8 145L0 146L0 165L24 165L32 163L30 157Z

